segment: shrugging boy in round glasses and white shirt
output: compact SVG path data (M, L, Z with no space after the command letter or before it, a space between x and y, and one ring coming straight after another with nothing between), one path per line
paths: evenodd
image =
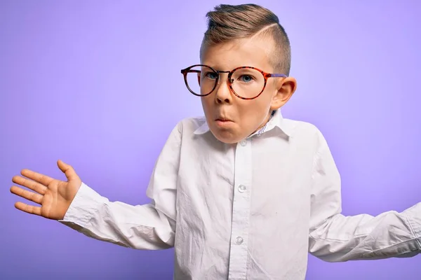
M109 202L59 160L66 182L27 169L13 177L35 193L12 193L41 204L15 207L121 246L174 246L175 279L298 280L308 252L330 262L417 254L421 204L342 216L340 174L323 135L281 116L297 83L276 15L248 4L207 17L201 63L181 71L204 117L171 132L149 204Z

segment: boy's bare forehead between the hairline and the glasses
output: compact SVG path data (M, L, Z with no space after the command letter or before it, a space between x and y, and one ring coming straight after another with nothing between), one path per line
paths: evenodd
M269 55L273 47L273 40L262 36L241 38L217 45L203 45L201 63L225 71L239 66L253 66L263 71L272 71Z

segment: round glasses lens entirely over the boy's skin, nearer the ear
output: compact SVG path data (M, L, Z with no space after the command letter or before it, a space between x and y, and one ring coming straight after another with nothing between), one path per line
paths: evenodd
M258 96L265 87L265 77L260 71L250 68L237 69L231 77L232 89L244 98Z

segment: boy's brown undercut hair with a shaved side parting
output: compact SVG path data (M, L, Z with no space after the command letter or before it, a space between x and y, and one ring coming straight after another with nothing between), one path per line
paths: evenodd
M227 43L253 36L269 36L274 43L268 52L269 63L277 73L289 76L291 64L290 42L279 18L271 10L256 4L219 5L206 13L208 29L201 44L206 46Z

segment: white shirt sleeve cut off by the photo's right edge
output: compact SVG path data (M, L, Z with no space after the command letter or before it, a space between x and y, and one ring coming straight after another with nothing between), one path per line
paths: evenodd
M328 262L410 257L421 248L421 204L378 216L341 214L340 174L321 132L312 176L309 253Z

